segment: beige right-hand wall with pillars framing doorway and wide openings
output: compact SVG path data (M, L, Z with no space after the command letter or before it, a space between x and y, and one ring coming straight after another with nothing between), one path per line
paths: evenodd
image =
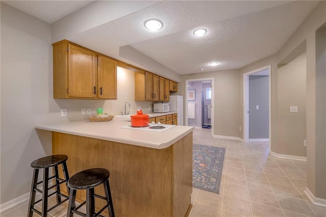
M243 73L271 65L271 151L278 153L282 149L278 145L278 70L277 64L281 63L288 57L293 50L306 40L306 134L307 134L307 171L308 171L308 188L313 195L318 195L326 188L325 182L319 183L318 177L325 177L326 171L318 168L323 163L323 159L316 155L316 33L315 31L326 22L326 2L320 1L314 10L307 16L299 28L293 33L289 40L271 57L257 61L240 69L240 79ZM240 85L242 85L242 80ZM240 95L242 95L242 87ZM241 102L241 106L242 106ZM241 112L242 113L242 112ZM240 116L240 121L243 120ZM319 138L318 138L319 139ZM292 150L291 153L295 153ZM292 155L292 154L290 154ZM317 184L319 183L319 184ZM318 195L319 196L319 195ZM325 196L319 196L326 199Z

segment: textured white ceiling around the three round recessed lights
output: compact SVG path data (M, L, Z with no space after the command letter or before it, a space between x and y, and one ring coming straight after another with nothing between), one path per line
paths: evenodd
M67 1L51 2L59 6ZM178 74L239 69L276 53L317 4L318 1L162 1L66 38L139 66L137 61L121 57L120 47L130 46ZM146 30L144 21L149 18L160 19L163 28L157 32ZM208 32L195 37L197 28ZM212 61L220 64L209 66ZM150 66L141 66L151 70Z

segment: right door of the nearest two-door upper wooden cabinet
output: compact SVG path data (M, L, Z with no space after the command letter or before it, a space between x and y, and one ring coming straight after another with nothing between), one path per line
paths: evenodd
M98 98L117 99L117 61L98 56Z

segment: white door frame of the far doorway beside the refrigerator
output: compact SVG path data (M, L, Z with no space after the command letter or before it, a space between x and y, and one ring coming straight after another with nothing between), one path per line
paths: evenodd
M184 119L185 119L185 126L188 126L188 82L202 82L204 80L211 80L211 84L212 84L212 98L210 100L211 103L211 117L210 117L210 124L211 124L211 128L210 128L210 135L213 136L214 134L214 78L213 77L207 77L207 78L197 78L197 79L187 79L185 80L185 97L184 97L184 102L185 102L185 106L184 106Z

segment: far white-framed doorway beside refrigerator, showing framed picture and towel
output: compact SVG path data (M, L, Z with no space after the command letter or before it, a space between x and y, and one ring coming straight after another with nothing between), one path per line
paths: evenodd
M185 81L185 125L209 128L213 135L214 78Z

